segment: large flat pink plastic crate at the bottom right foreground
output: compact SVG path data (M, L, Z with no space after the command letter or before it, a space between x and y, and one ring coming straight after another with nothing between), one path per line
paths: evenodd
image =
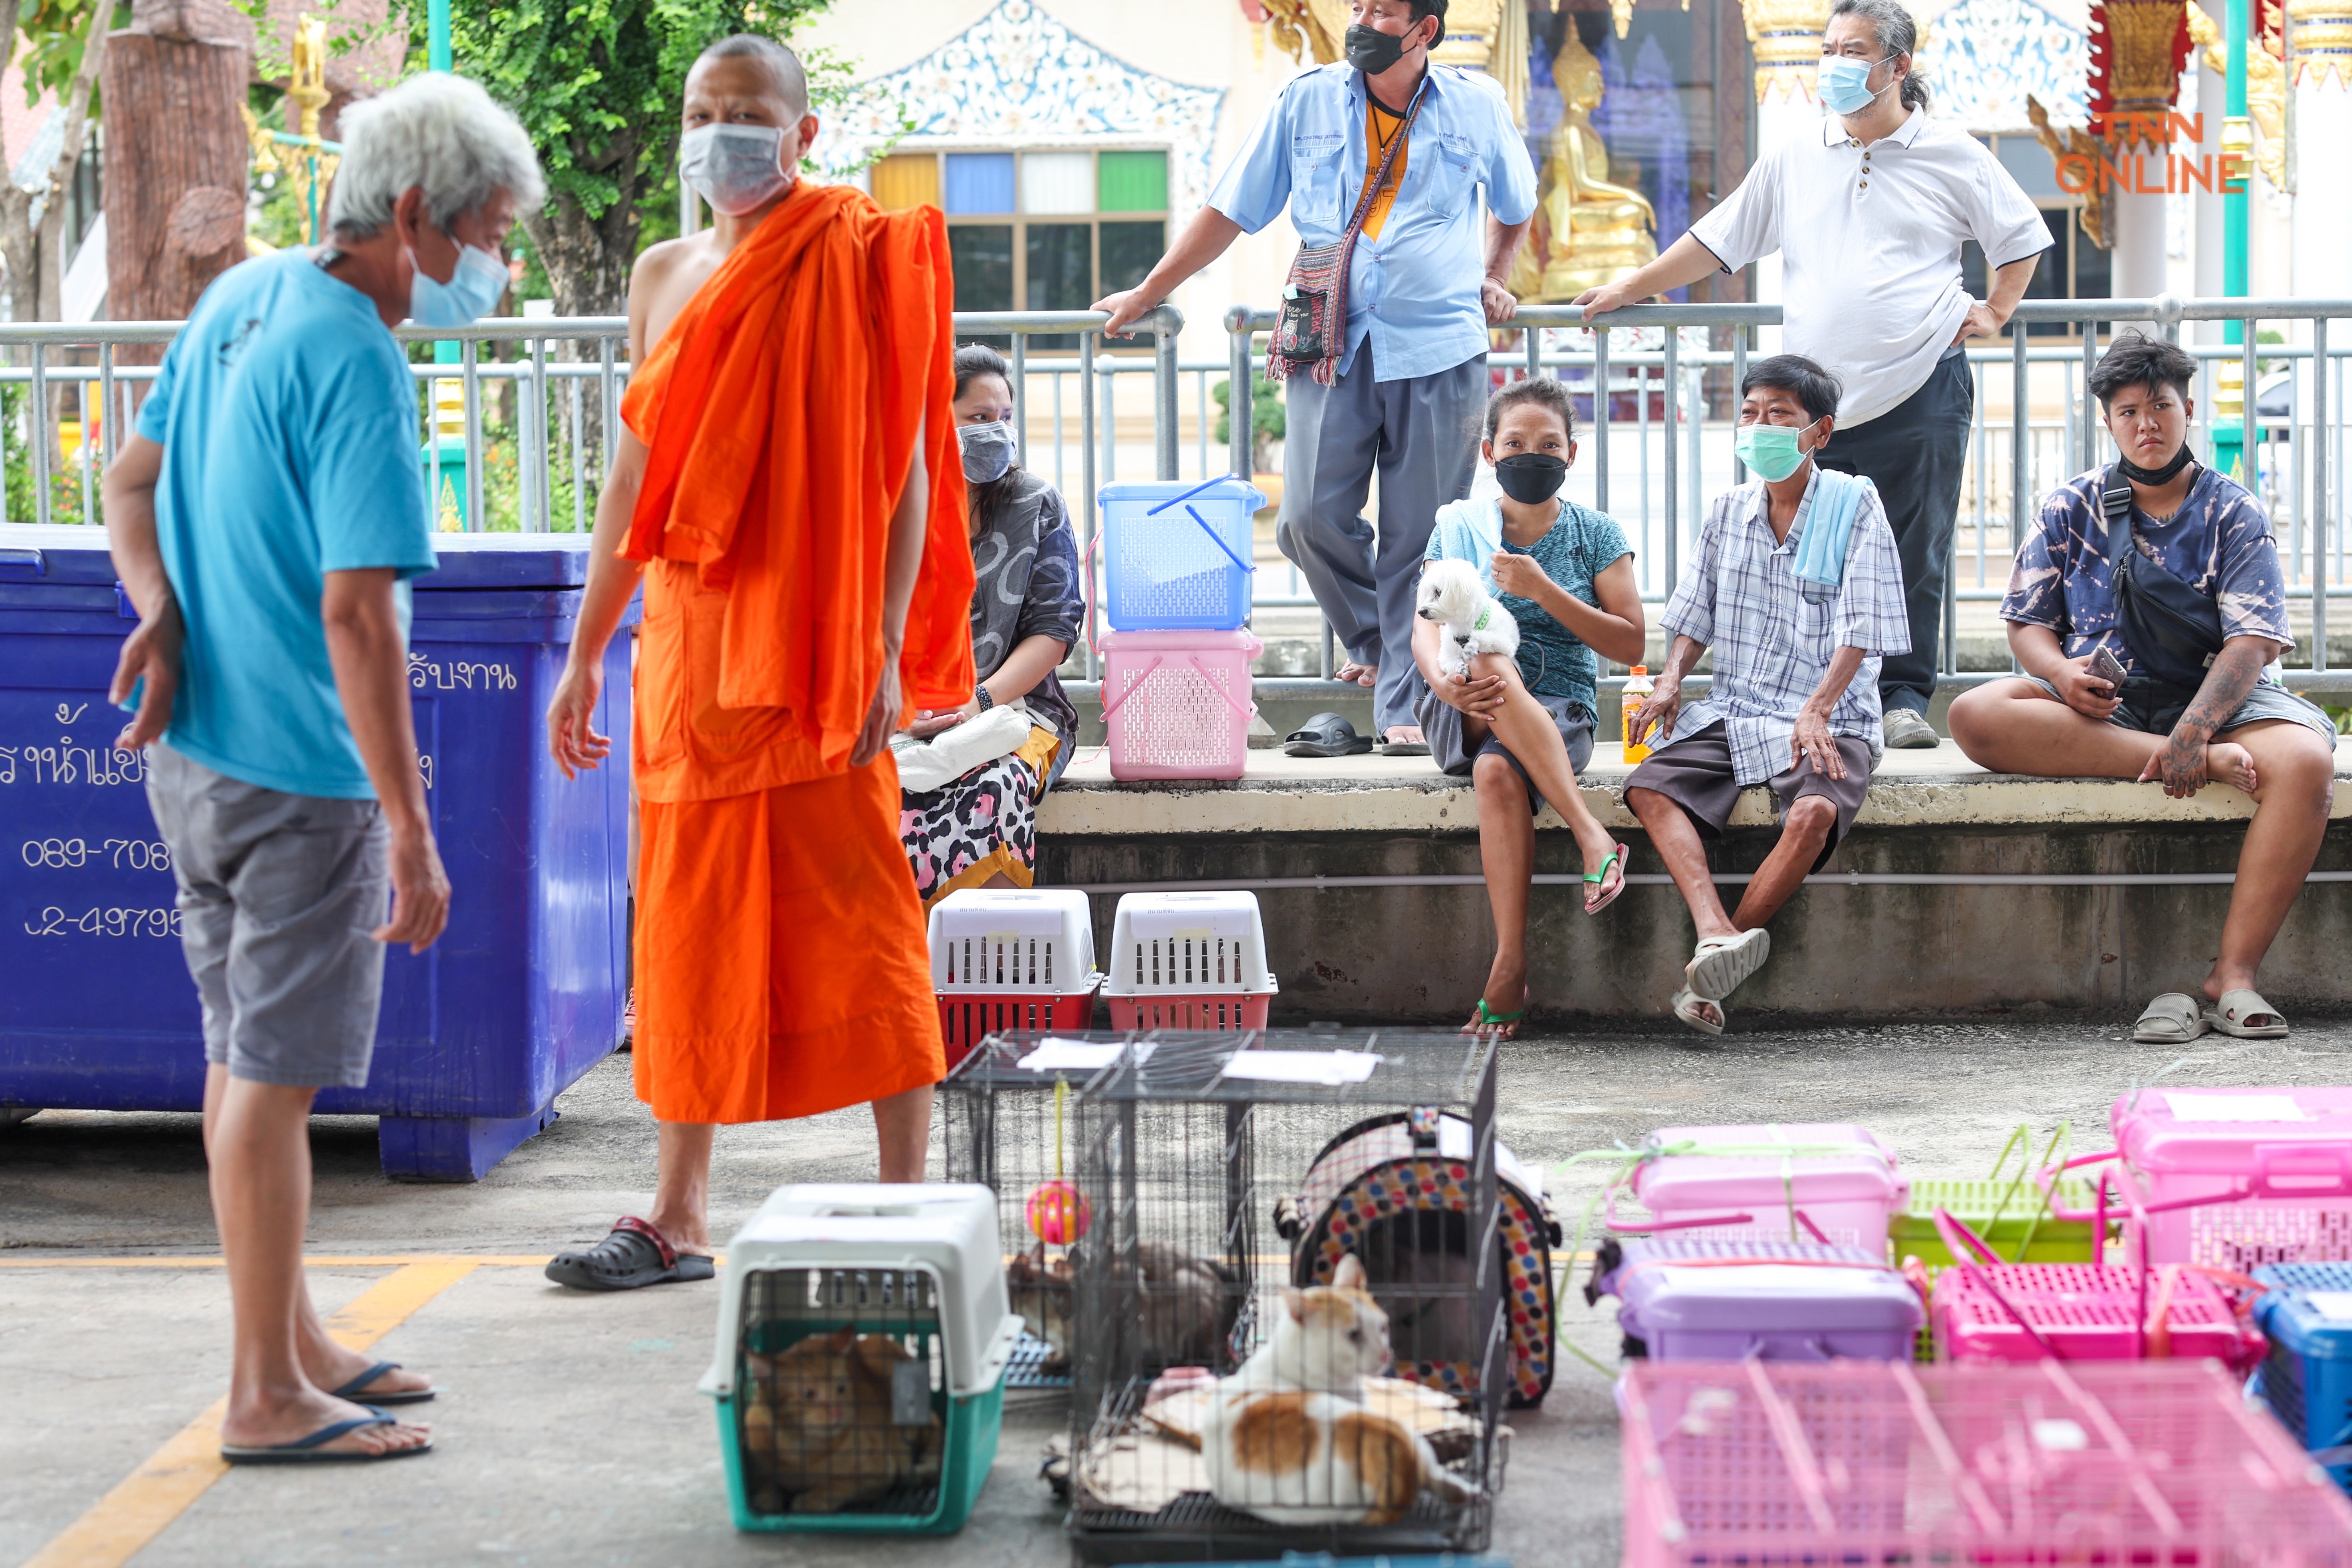
M2352 1505L2206 1363L1639 1361L1625 1563L2352 1568Z

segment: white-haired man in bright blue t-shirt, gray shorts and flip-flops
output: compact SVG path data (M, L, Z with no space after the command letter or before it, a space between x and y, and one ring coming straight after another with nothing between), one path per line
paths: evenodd
M473 82L433 73L346 110L334 237L205 289L106 470L139 607L115 745L153 743L148 804L205 1009L230 1465L433 1443L381 1408L430 1399L430 1380L343 1349L310 1307L308 1117L322 1086L367 1081L386 945L423 952L449 914L407 670L407 578L433 569L433 534L390 327L489 310L506 230L539 195L529 136Z

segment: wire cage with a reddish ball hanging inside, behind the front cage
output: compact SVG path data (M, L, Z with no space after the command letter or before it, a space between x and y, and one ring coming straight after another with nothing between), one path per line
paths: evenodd
M938 1086L946 1178L997 1194L1004 1284L1023 1331L1007 1389L1068 1389L1077 1255L1094 1206L1077 1187L1077 1098L1131 1034L988 1034Z

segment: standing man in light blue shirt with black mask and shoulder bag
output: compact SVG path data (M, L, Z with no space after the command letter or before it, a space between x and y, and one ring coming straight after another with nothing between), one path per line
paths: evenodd
M1348 649L1341 679L1376 686L1383 750L1428 752L1414 583L1437 508L1470 494L1486 329L1517 310L1503 277L1536 216L1536 167L1491 78L1430 63L1446 0L1355 0L1350 19L1348 63L1294 78L1160 266L1096 310L1122 331L1284 207L1301 244L1336 244L1404 136L1350 256L1338 378L1289 378L1277 538ZM1359 515L1376 465L1378 534Z

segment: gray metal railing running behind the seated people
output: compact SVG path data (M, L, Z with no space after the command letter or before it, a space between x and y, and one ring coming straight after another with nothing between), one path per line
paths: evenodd
M1957 607L1997 602L2006 562L2039 496L2107 456L2096 404L2084 390L2098 350L2112 343L2119 324L2150 322L2180 341L2183 324L2232 320L2244 324L2244 343L2187 343L2201 367L2192 435L2209 449L2216 371L2234 360L2246 388L2234 425L2239 449L2251 454L2249 487L2270 508L2279 534L2288 597L2310 607L2312 670L2326 672L2328 595L2345 567L2340 475L2345 362L2352 357L2352 331L2338 329L2331 339L2331 322L2347 315L2352 301L2027 301L2004 339L1971 341L1976 414L1945 574L1945 675L1957 675ZM1743 477L1731 451L1731 388L1750 357L1769 350L1766 334L1778 317L1776 306L1635 306L1588 327L1573 306L1524 306L1508 329L1512 336L1503 339L1508 348L1489 357L1496 381L1552 374L1569 383L1583 416L1585 458L1571 473L1566 494L1618 517L1635 545L1642 595L1653 604L1672 590L1708 498ZM1094 545L1094 496L1120 475L1122 449L1131 470L1148 465L1157 480L1249 473L1249 388L1263 374L1261 334L1275 317L1247 306L1228 310L1223 362L1178 360L1183 315L1169 306L1145 315L1122 341L1101 336L1103 320L1091 310L955 317L960 341L1009 341L1021 461L1068 496L1082 550ZM2046 324L2072 331L2074 341L2027 334L2027 327ZM2258 341L2265 327L2279 329L2284 341ZM96 517L96 468L113 458L136 388L155 376L153 367L122 364L118 350L167 343L176 329L176 322L0 324L0 350L12 360L0 367L0 397L12 400L7 418L0 418L12 517L21 517L21 503L38 522ZM445 496L445 458L435 433L447 433L440 404L452 404L463 435L466 494L463 508L456 508L463 527L586 529L628 381L626 334L621 317L400 329L395 336L402 343L461 346L454 364L412 364L419 449L437 503ZM1033 339L1042 336L1075 336L1077 353L1033 350ZM2258 407L2265 369L2270 402L2284 402L2281 411L2263 414ZM1122 421L1117 386L1124 378L1150 381L1143 418L1129 414ZM1185 378L1190 397L1183 395ZM1218 378L1228 383L1230 430L1223 444L1211 440ZM56 383L73 386L64 409L52 407ZM80 440L94 409L111 416L101 414L96 442ZM1143 425L1143 440L1122 442L1122 423L1129 430ZM73 440L59 442L59 435ZM66 454L64 468L56 468L59 454ZM16 475L31 477L31 496L19 498ZM1258 574L1256 607L1310 609L1312 597L1303 592L1296 567L1268 564L1272 569ZM1331 658L1324 623L1324 675ZM1091 677L1091 649L1084 665Z

